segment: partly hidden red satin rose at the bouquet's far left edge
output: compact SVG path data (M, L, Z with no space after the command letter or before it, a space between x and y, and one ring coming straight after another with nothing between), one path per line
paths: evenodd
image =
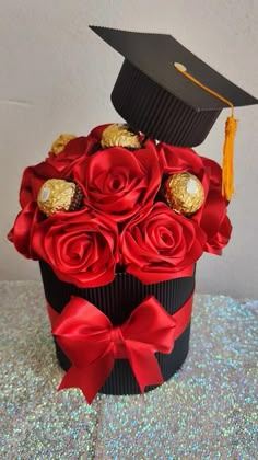
M8 239L14 244L15 249L26 258L37 260L31 245L31 234L36 222L43 219L37 204L30 202L24 209L19 212L12 230L8 233Z

